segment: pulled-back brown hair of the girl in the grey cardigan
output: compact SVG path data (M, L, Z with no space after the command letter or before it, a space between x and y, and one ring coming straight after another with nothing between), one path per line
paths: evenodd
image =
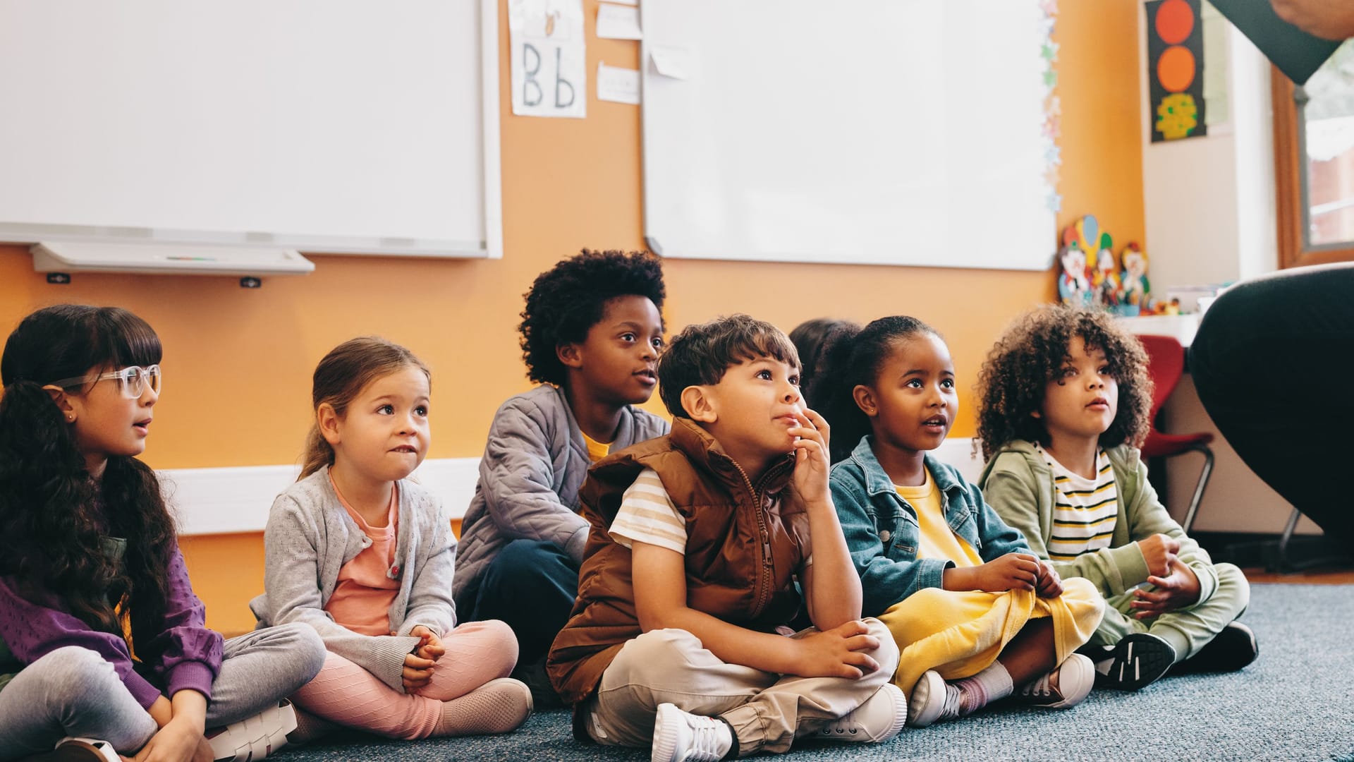
M394 342L387 342L380 336L359 336L348 339L315 366L311 377L310 401L315 411L320 405L329 404L334 414L343 418L348 412L357 395L376 378L398 373L405 367L417 367L432 384L432 372L418 359L414 353L401 347ZM334 464L334 449L320 433L320 424L311 424L306 437L306 452L301 456L301 476L298 481L311 473Z

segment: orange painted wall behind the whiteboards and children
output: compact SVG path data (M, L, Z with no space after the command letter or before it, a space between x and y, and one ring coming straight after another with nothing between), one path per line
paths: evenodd
M594 18L597 0L584 5ZM582 247L643 241L639 108L598 102L589 87L586 119L513 117L500 9L504 259L315 256L314 274L269 278L259 290L233 278L92 274L50 286L23 247L0 247L0 325L8 331L30 310L61 301L121 305L148 319L165 344L165 395L145 456L156 468L295 462L314 363L360 334L408 344L432 366L431 457L478 456L498 403L528 386L515 327L532 278ZM1055 35L1059 224L1094 213L1116 240L1143 237L1136 23L1135 0L1063 3ZM588 38L589 72L600 60L636 68L638 58L638 43ZM982 237L999 243L1001 230ZM1053 294L1044 273L691 260L668 262L665 271L672 328L733 310L787 331L825 315L930 321L951 343L964 392L956 437L974 433L968 386L1005 321ZM263 587L260 536L183 545L209 624L226 632L252 626L245 602Z

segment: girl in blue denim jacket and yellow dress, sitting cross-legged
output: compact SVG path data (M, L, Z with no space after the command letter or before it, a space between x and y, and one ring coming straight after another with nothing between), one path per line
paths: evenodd
M903 316L838 334L811 397L833 426L833 503L862 616L888 625L902 652L894 683L909 694L907 723L952 720L1013 693L1048 708L1080 702L1094 667L1075 651L1104 602L1085 579L1060 579L927 453L959 409L940 335Z

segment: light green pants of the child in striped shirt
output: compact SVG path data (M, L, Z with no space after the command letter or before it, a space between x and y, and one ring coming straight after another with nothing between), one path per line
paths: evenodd
M1215 564L1217 590L1213 597L1187 609L1167 611L1159 617L1139 620L1133 617L1129 603L1133 591L1106 598L1105 618L1101 620L1090 643L1113 645L1125 635L1135 632L1152 633L1175 648L1175 660L1181 662L1198 654L1224 626L1246 611L1251 602L1251 586L1242 569L1232 564Z

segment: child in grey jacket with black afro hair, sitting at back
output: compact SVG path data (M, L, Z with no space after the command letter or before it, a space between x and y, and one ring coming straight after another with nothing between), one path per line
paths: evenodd
M635 408L654 393L663 347L663 273L649 252L588 251L542 273L525 294L521 350L540 384L494 414L462 523L452 593L462 621L501 620L520 647L516 677L556 705L546 652L578 594L588 466L668 433Z

